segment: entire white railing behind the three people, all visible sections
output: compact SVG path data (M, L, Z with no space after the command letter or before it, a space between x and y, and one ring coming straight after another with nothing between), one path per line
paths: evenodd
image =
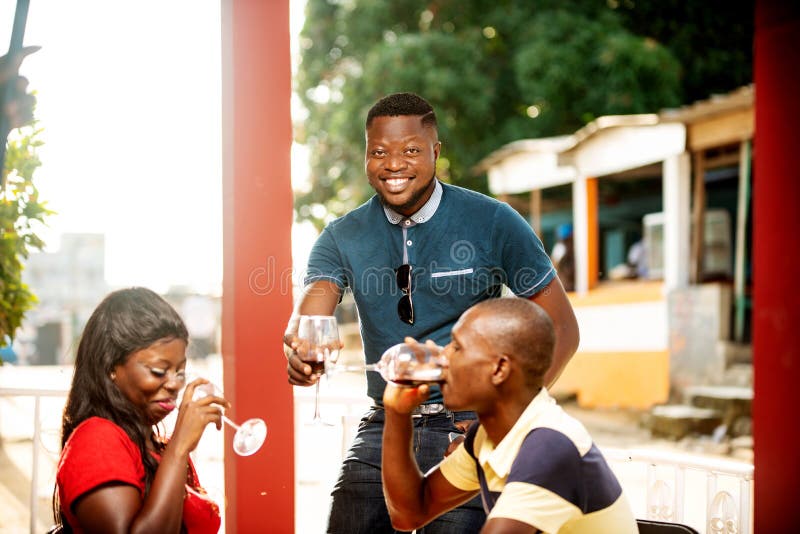
M313 413L311 388L295 394L296 446L307 446L310 436L304 424ZM0 387L0 399L32 397L33 436L30 487L30 532L38 532L37 482L41 469L42 399L65 397L65 389ZM323 418L333 423L333 435L340 433L337 445L326 447L333 452L327 466L338 470L352 441L361 414L370 404L365 395L323 394ZM0 439L2 439L0 426ZM333 437L333 436L331 436ZM330 445L333 445L331 443ZM637 517L685 523L708 534L750 534L753 531L753 466L752 464L661 449L601 450L628 495ZM308 455L297 455L298 461ZM333 462L333 463L331 463ZM219 462L221 464L221 462ZM310 477L320 472L309 471ZM298 477L302 485L303 477ZM324 476L322 479L324 480ZM307 482L307 481L306 481ZM309 491L298 486L298 497ZM323 492L324 493L324 492ZM324 508L324 507L323 507ZM300 523L298 522L298 526Z

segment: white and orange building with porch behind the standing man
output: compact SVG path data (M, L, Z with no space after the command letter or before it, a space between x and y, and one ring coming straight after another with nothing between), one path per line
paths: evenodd
M556 390L586 407L647 408L705 386L752 396L754 94L599 117L478 165L548 250L574 228L581 345Z

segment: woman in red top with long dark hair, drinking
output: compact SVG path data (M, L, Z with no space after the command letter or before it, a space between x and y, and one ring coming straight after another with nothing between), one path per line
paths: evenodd
M62 423L53 509L74 532L217 532L219 509L203 498L189 458L209 423L221 428L221 397L192 400L186 386L173 434L156 424L186 376L186 326L144 288L115 291L81 336Z

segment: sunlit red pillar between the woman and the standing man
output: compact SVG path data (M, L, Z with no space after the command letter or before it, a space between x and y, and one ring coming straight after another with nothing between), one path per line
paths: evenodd
M222 357L232 418L267 441L238 457L226 430L226 531L294 532L294 417L281 336L291 312L289 2L222 1Z

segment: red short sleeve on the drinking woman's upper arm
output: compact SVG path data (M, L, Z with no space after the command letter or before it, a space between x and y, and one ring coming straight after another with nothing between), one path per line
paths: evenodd
M144 464L139 448L122 428L93 417L81 423L61 452L56 479L62 507L108 483L129 484L144 496Z

